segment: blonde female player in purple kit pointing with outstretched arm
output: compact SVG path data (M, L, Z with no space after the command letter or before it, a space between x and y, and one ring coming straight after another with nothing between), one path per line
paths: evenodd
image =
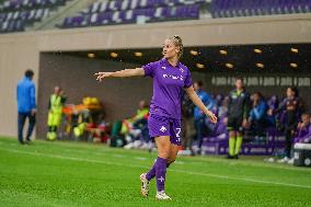
M141 194L149 194L149 182L156 176L156 199L171 199L164 192L166 168L176 159L178 146L181 146L181 106L183 89L203 113L209 116L212 123L217 117L207 110L193 88L191 72L186 66L180 62L183 54L182 38L177 35L165 39L163 44L163 58L150 62L141 68L125 69L116 72L97 72L96 80L114 77L151 77L153 79L153 96L150 104L148 120L149 135L158 147L158 159L149 172L140 175Z

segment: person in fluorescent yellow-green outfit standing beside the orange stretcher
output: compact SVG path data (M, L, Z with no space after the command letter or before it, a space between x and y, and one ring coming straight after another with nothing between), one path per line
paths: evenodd
M55 140L57 138L57 128L61 122L62 106L66 102L66 96L62 95L64 91L60 87L54 88L54 93L48 102L48 117L47 117L47 140Z

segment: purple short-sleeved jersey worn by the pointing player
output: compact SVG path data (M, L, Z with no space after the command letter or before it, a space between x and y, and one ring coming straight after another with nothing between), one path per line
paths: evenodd
M189 88L189 69L177 64L173 67L165 58L142 66L145 76L153 78L153 96L150 114L181 119L183 88Z

